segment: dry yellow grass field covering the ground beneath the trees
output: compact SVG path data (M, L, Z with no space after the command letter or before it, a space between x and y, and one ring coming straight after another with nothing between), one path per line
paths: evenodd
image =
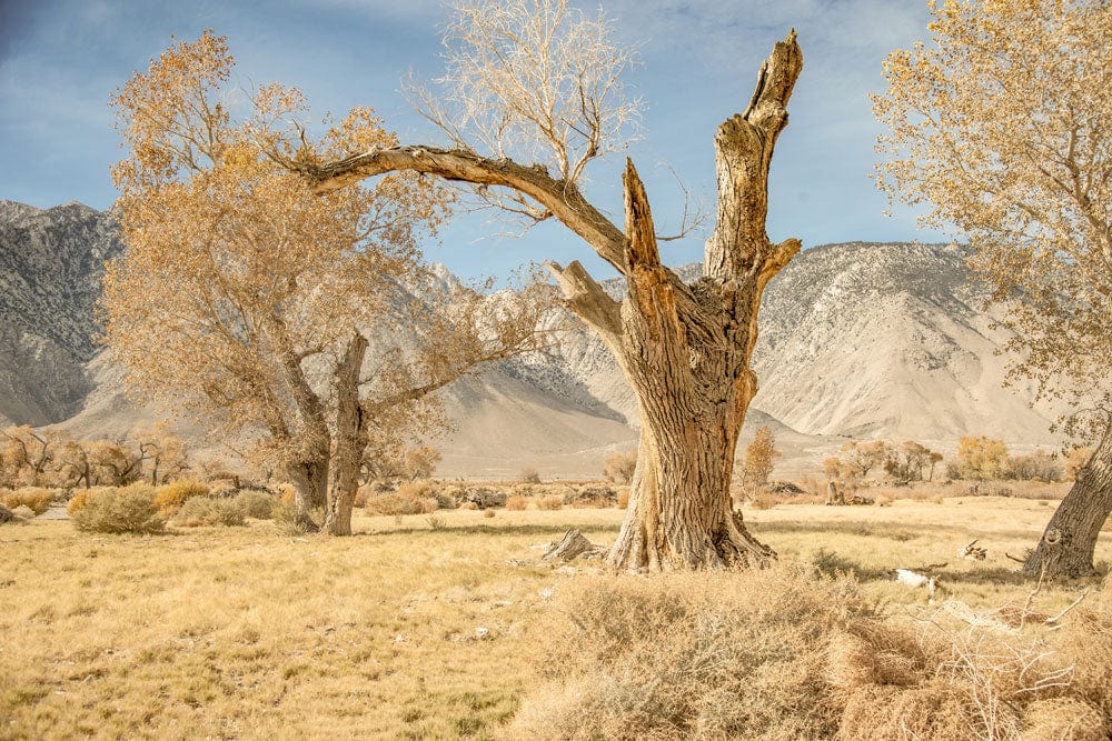
M944 597L1022 605L1021 555L1053 503L901 499L747 510L785 561L853 570L892 619L930 615L888 570L946 562ZM348 539L270 522L92 535L0 528L0 738L493 738L540 687L535 629L597 567L539 563L568 528L596 542L616 509L357 515ZM435 518L435 519L430 519ZM974 538L983 562L956 551ZM1112 559L1112 534L1098 558ZM634 578L635 579L635 578ZM1044 585L1068 607L1092 583ZM940 595L941 599L942 595Z

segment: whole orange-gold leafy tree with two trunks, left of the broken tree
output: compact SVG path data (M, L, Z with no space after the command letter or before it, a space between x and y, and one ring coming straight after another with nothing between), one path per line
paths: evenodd
M475 290L433 290L419 240L449 197L413 174L314 196L276 154L332 158L394 136L357 109L312 141L289 126L306 114L297 90L237 99L232 67L226 40L206 32L112 98L128 156L112 170L126 251L105 278L107 343L141 397L249 440L284 471L305 530L324 505L324 529L349 534L376 422L536 348L549 300L540 286L496 309ZM420 341L391 341L403 333Z

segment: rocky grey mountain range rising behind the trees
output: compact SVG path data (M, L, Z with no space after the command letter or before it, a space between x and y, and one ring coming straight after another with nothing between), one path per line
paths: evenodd
M97 346L111 218L80 203L0 201L0 424L117 437L157 418L123 392ZM800 253L774 279L754 353L759 391L743 443L767 424L781 475L814 473L850 438L915 439L951 453L965 434L1051 445L1058 415L1030 387L1002 387L1005 336L983 310L960 247L851 242ZM698 267L678 269L685 280ZM454 280L444 272L445 280ZM606 283L614 296L620 280ZM597 474L636 445L636 401L586 329L545 356L488 367L444 392L455 432L435 443L441 475ZM179 422L188 437L201 425Z

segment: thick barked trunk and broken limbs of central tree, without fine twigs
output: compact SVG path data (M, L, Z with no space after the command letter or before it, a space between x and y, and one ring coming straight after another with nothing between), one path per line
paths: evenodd
M729 484L742 422L757 390L749 368L761 297L800 250L765 231L768 168L787 126L787 102L803 69L795 32L764 61L743 113L715 134L717 223L703 277L692 286L661 263L644 184L627 161L625 228L543 167L430 147L376 149L300 167L327 191L410 170L510 188L540 203L626 279L615 301L579 262L548 266L566 306L614 354L637 395L642 433L629 508L607 560L633 570L761 564L774 558L731 509Z

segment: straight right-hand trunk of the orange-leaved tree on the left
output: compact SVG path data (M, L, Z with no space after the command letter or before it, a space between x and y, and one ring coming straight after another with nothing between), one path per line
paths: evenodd
M351 534L351 509L359 489L359 464L366 448L366 425L359 403L359 372L366 354L367 339L356 334L336 369L336 449L322 527L330 535Z

